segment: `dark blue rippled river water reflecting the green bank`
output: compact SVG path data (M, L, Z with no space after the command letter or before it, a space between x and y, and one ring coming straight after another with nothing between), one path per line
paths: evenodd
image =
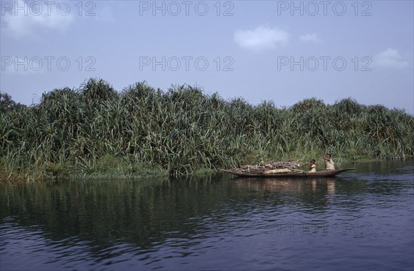
M412 270L412 161L356 168L1 183L0 270Z

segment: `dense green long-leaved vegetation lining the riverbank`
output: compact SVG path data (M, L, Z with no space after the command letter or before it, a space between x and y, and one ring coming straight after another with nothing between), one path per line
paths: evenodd
M7 99L6 99L7 98ZM414 152L403 110L306 99L252 106L199 88L145 82L121 93L90 79L21 106L1 94L0 179L193 174L267 159L393 159Z

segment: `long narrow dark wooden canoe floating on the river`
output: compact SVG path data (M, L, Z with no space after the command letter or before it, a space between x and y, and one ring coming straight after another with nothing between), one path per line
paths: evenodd
M317 172L307 172L307 171L291 171L291 172L275 172L275 173L268 173L268 172L260 172L260 173L250 173L246 172L246 170L240 170L238 168L235 168L233 170L221 170L222 172L227 172L231 174L235 174L239 177L271 177L271 178L291 178L291 177L313 177L313 178L319 178L319 177L333 177L337 174L340 174L342 172L346 172L348 170L355 170L355 168L345 168L343 170L322 170Z

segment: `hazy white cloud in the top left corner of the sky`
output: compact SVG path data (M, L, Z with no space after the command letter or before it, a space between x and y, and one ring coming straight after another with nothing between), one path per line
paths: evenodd
M12 9L2 16L2 21L6 23L6 26L3 26L4 31L15 38L21 38L37 36L36 32L42 29L63 30L72 23L73 17L63 8L59 14L56 6L52 6L52 8L48 8L48 6L36 7L30 5L28 1L15 1Z

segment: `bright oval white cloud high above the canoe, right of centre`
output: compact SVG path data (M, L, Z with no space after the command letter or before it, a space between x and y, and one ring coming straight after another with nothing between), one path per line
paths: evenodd
M289 39L288 32L268 26L258 26L254 30L237 30L235 42L248 50L266 50L284 46Z

